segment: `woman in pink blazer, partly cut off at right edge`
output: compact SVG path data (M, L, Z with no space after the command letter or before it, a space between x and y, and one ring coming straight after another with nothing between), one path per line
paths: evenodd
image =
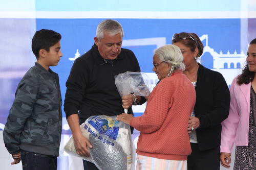
M229 116L222 123L221 164L230 167L230 153L236 142L233 169L256 167L256 38L250 42L246 66L230 87Z

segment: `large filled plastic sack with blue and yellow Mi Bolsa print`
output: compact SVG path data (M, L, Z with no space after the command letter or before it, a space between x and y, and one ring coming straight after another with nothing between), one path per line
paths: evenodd
M90 157L76 153L74 139L71 136L64 149L67 153L94 163L102 170L133 169L135 147L130 126L116 119L116 116L90 116L80 125L82 135L93 145Z

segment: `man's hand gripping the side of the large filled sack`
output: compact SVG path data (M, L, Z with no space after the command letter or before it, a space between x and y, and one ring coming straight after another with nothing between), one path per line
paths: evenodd
M90 151L87 147L93 148L91 142L83 135L73 136L75 141L76 153L80 156L89 157Z

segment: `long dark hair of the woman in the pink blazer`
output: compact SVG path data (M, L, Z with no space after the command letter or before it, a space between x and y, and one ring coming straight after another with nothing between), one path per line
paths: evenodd
M251 42L251 44L256 44L256 38L254 38ZM237 79L237 83L239 85L241 84L248 84L250 82L252 82L253 78L254 78L255 72L250 71L249 67L248 67L248 63L244 66L243 70L242 70L242 74L238 76Z

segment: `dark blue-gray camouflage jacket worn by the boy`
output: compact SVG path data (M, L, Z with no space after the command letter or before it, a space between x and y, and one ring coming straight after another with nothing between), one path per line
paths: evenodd
M36 62L18 84L7 118L3 134L9 153L59 156L61 105L58 75Z

